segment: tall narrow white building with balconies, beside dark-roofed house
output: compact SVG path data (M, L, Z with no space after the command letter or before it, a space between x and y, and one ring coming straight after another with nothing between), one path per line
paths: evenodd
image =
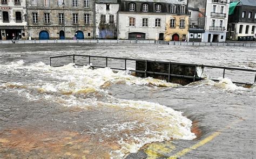
M225 0L224 0L225 1ZM228 4L230 0L227 0L227 3L215 3L212 2L212 0L207 0L207 5L206 5L206 31L203 35L203 42L208 41L208 34L211 35L211 42L213 39L213 35L219 35L218 36L218 41L219 42L225 42L226 41L226 32L227 32L227 20L228 20ZM220 13L220 8L221 6L224 6L224 11L223 13L226 14L225 18L220 18L220 17L213 17L211 16L211 12L213 11L213 5L216 5L216 13ZM224 31L216 31L216 30L210 30L210 27L212 26L212 19L215 19L215 27L220 26L220 20L223 20L223 27L225 27ZM223 39L221 39L221 36L224 36Z

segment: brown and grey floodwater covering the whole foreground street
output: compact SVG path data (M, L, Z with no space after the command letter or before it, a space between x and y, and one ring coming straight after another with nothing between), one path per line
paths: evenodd
M0 48L0 158L166 158L177 153L182 158L255 157L255 85L244 88L231 82L253 82L252 73L231 71L232 77L221 79L221 70L209 70L205 76L213 74L221 81L181 86L134 77L129 71L73 67L72 59L55 61L70 60L63 67L49 66L49 56L81 54L255 69L255 48L156 44ZM214 139L200 142L216 132ZM179 153L186 148L191 149Z

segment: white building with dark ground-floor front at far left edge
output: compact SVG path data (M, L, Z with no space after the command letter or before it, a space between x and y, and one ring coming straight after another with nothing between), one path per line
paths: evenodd
M0 40L26 39L25 0L0 1Z

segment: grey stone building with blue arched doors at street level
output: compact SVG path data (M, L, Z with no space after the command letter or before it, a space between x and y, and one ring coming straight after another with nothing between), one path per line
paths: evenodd
M31 39L92 39L92 0L26 0L28 33Z

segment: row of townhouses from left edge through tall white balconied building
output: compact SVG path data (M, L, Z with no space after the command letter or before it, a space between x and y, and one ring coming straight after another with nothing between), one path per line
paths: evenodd
M0 40L222 42L230 26L229 3L230 0L1 0Z

